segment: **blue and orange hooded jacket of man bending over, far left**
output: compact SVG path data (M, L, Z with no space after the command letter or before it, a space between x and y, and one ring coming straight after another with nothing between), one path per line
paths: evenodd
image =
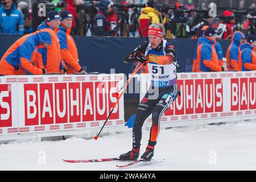
M31 63L31 55L40 42L52 44L51 34L46 30L36 31L18 39L5 52L0 61L0 75L42 75L43 70Z

